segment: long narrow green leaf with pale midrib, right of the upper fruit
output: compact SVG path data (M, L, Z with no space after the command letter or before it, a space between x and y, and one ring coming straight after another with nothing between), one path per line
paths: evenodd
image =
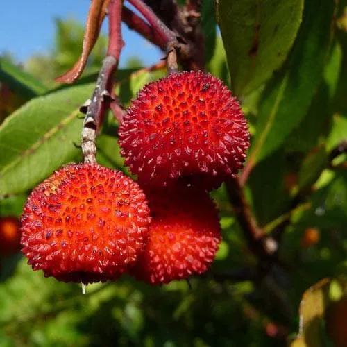
M252 164L276 151L306 115L323 77L334 9L333 0L306 0L294 48L260 102L257 133L248 157Z

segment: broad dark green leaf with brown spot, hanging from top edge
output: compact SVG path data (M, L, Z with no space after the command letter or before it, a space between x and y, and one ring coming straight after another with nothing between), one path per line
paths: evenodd
M217 21L237 96L262 85L285 61L298 32L303 2L217 1Z

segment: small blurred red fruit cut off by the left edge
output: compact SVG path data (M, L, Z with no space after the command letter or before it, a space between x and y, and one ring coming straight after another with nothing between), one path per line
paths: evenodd
M19 251L19 241L19 220L16 217L0 217L0 257Z

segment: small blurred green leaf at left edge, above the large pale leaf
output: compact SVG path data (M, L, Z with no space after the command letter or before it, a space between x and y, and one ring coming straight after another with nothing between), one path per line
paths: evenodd
M47 91L47 88L36 78L3 58L0 58L0 81L6 83L13 92L26 100Z

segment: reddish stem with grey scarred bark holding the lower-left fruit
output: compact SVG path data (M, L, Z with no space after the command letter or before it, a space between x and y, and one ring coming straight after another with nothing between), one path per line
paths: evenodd
M112 100L110 94L113 86L113 75L118 66L121 49L124 46L121 38L121 7L122 0L111 0L108 6L108 55L103 60L96 87L83 122L82 152L84 162L96 162L96 135L99 132L105 111ZM121 119L121 115L122 112L119 110L117 117Z

